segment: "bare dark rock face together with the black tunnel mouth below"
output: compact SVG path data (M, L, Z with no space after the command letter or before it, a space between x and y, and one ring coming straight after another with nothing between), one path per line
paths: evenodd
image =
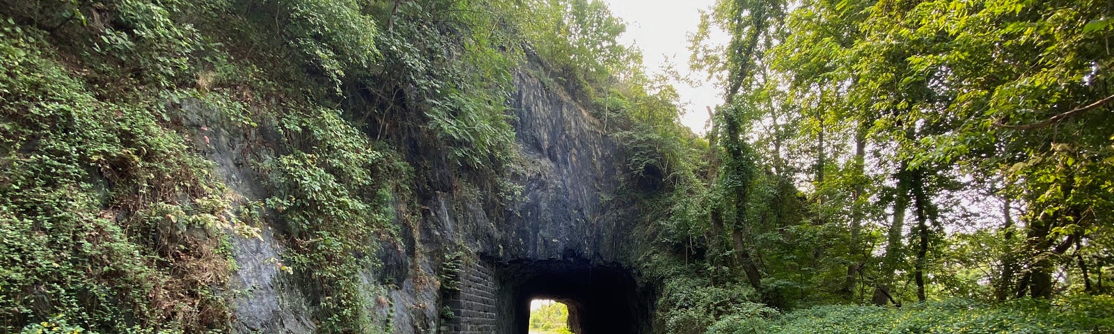
M517 77L518 144L537 169L519 181L528 200L508 212L497 267L498 333L526 333L535 297L569 306L576 333L648 333L653 289L631 271L641 245L636 213L610 202L623 151L598 120L529 75Z

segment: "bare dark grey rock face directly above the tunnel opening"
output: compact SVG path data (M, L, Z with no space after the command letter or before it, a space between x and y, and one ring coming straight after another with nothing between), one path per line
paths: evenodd
M555 92L531 75L516 76L518 94L512 98L517 139L527 168L516 181L525 186L527 200L507 213L501 226L500 256L546 259L577 256L615 262L624 247L616 235L622 228L614 197L622 177L622 150L604 134L603 125L587 110ZM625 236L620 236L625 237Z

